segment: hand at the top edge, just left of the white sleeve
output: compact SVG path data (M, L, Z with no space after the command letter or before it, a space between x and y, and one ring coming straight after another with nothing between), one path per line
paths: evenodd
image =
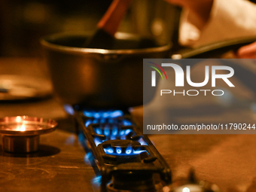
M209 20L214 0L165 0L173 5L182 8L188 8L191 13L197 16L197 19L205 24Z

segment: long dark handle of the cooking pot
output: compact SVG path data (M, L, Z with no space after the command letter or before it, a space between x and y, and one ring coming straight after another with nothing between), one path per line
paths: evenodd
M178 50L177 53L170 55L171 59L204 59L204 58L220 58L222 54L230 50L238 50L246 44L256 41L256 36L248 38L236 38L227 41L221 41L214 44L208 44L198 48L185 48Z

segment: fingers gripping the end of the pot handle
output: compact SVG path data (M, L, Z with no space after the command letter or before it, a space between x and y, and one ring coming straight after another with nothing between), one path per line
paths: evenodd
M240 47L236 52L239 59L256 59L256 41L252 44Z

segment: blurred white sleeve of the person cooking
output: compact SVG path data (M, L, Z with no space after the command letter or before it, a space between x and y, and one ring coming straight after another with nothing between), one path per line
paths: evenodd
M209 22L200 26L194 15L181 14L180 43L193 47L256 35L256 5L245 0L214 0Z

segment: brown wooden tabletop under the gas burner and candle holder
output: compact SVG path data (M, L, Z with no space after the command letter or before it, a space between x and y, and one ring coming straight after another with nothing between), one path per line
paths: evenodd
M0 59L0 69L1 74L21 73L48 79L47 69L41 59L4 58ZM185 103L184 105L186 105ZM177 109L176 102L174 105ZM207 107L207 105L205 106ZM211 105L208 107L207 110L210 111ZM176 114L174 117L177 122L181 120L181 117L187 118L187 120L192 118L188 115L189 113L187 116L184 115L187 110L185 107L183 109L184 111L181 110L180 115ZM248 112L249 109L243 108L242 111L244 110ZM242 111L241 117L244 115ZM239 115L239 110L236 112ZM132 113L142 124L142 108L135 108ZM252 111L248 113L251 115L251 120L255 122L256 114L253 114ZM81 150L81 146L78 145L76 139L72 146L61 145L67 141L66 139L71 138L72 140L72 137L75 137L70 131L66 131L65 127L69 126L68 130L70 130L73 124L67 118L62 105L53 98L39 99L33 102L0 103L1 117L21 114L54 118L60 122L64 120L65 123L61 123L56 132L41 138L41 148L51 148L53 154L44 157L14 157L8 156L4 152L0 154L0 190L41 191L47 190L45 187L47 184L49 186L52 184L53 187L49 187L47 191L72 191L74 189L85 191L85 188L87 191L93 191L89 181L94 176L93 169L83 164L84 160L81 158L83 158L84 152ZM256 135L151 135L150 139L171 167L174 180L187 176L187 172L193 167L197 178L218 184L222 191L256 191ZM56 151L56 148L59 151ZM49 164L47 161L51 163ZM20 167L19 170L17 167ZM75 170L78 170L77 175L73 172ZM46 174L46 176L37 181L35 178L31 181L24 178L33 172ZM75 176L79 178L77 181L72 179ZM83 184L74 188L79 183ZM62 187L57 188L57 185ZM87 187L84 188L84 186Z

